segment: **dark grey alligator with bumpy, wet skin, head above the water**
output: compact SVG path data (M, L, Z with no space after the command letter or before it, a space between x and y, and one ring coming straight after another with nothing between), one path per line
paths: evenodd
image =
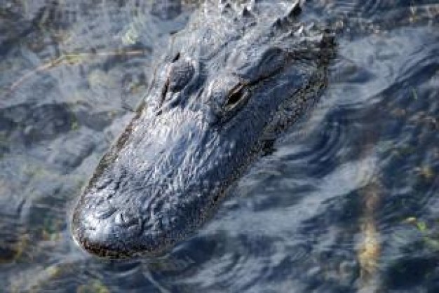
M100 257L158 255L205 222L325 87L332 36L299 22L301 11L220 1L192 16L79 199L79 245Z

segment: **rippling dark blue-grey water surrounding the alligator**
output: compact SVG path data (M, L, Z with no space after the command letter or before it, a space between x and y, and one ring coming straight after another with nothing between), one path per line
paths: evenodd
M0 291L439 291L438 1L307 2L338 31L316 107L168 256L82 252L81 187L198 5L137 2L0 1Z

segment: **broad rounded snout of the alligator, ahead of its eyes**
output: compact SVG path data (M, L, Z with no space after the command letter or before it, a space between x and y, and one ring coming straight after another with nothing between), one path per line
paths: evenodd
M196 225L209 198L201 193L216 192L199 184L210 168L196 151L208 139L196 115L175 108L131 123L102 158L74 210L77 243L101 257L157 255Z

